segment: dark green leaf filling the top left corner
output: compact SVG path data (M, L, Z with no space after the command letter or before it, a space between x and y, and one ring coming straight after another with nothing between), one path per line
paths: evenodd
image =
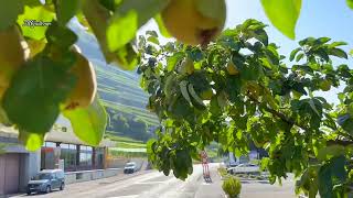
M23 0L2 1L0 7L0 30L13 25L18 15L23 12ZM22 24L22 23L21 23Z

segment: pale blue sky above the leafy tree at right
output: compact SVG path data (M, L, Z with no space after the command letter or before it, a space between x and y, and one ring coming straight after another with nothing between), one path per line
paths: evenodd
M353 10L349 9L345 0L303 0L295 41L284 36L271 25L263 10L260 0L226 0L226 28L234 28L250 18L263 21L269 25L266 30L270 42L279 45L281 47L280 53L287 57L293 48L298 47L298 42L308 36L328 36L333 41L344 41L349 43L347 46L343 47L346 52L353 48ZM150 22L139 33L142 34L146 30L158 29L153 22ZM353 68L352 58L335 63L349 64ZM338 102L335 94L339 91L340 89L320 95L330 102Z

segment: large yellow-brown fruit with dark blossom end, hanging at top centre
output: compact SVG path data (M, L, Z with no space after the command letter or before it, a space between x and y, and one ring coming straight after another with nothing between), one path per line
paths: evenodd
M207 11L200 9L206 6L213 7L208 10L214 14L205 14ZM221 33L226 7L224 0L171 0L161 14L168 32L180 42L190 45L207 44Z

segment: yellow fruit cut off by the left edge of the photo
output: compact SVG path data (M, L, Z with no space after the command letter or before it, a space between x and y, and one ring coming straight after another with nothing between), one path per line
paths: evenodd
M11 82L11 78L25 62L26 43L17 26L0 31L0 100Z

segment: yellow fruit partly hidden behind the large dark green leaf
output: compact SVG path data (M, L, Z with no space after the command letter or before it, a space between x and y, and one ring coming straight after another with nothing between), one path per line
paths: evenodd
M88 107L97 92L96 73L93 65L77 50L74 52L77 61L71 73L76 76L77 80L65 102L66 110Z

